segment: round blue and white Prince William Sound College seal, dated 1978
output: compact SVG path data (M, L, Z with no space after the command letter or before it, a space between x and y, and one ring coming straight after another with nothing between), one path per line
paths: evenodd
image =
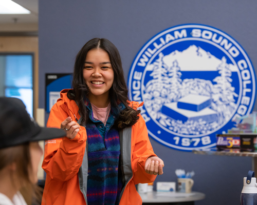
M128 75L130 99L149 134L176 150L209 149L216 134L252 111L255 73L244 49L228 34L190 24L166 29L136 55Z

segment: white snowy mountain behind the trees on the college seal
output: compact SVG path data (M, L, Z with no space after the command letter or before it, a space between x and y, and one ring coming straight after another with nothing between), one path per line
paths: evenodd
M189 48L183 51L173 51L169 55L163 57L163 63L167 66L172 66L174 60L177 61L180 66L180 71L217 71L218 65L222 63L221 59L216 58L208 51L195 45L191 45ZM231 72L238 70L237 66L228 64ZM146 68L148 71L153 70L153 64Z

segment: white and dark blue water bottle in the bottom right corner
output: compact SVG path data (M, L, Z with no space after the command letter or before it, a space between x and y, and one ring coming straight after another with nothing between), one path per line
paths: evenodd
M244 177L244 187L240 197L241 205L257 205L257 183L254 172L249 171Z

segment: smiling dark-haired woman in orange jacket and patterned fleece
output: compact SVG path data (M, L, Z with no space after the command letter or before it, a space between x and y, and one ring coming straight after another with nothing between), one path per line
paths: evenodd
M82 47L72 86L61 91L47 122L66 137L45 145L42 204L142 204L135 185L154 181L164 164L137 109L142 104L128 100L120 55L109 40Z

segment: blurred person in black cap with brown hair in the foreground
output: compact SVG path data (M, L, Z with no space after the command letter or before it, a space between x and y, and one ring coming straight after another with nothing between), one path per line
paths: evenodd
M39 140L65 136L56 128L41 128L30 118L22 100L0 97L0 205L26 205L21 189L35 196L38 165L43 150Z

